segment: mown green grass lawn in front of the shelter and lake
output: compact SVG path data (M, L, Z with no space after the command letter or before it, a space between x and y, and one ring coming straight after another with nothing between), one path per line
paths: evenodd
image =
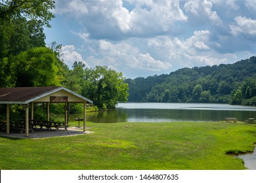
M252 151L256 142L256 125L239 122L87 122L87 127L94 133L0 137L0 169L244 169L242 159L226 153Z

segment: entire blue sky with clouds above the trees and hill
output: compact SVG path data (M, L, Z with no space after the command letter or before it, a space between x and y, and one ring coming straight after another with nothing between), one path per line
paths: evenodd
M126 78L256 56L256 0L55 0L45 28L62 58Z

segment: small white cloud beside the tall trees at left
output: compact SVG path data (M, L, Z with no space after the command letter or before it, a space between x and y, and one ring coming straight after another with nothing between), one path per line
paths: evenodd
M88 67L89 65L86 63L85 60L83 60L83 57L81 54L75 51L75 46L74 45L66 45L62 46L61 50L62 58L64 59L64 62L68 67L72 67L74 61L81 61L85 63L85 65Z

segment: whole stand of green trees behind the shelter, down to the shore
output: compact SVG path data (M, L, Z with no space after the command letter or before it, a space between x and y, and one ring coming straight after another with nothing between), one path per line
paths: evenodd
M0 87L64 86L102 109L127 101L122 73L77 61L70 69L61 44L46 45L43 26L51 27L53 8L53 0L0 1Z

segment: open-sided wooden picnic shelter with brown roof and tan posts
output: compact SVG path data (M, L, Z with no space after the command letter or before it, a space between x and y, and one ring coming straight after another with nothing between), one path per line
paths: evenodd
M26 137L29 136L34 103L47 103L47 121L50 120L50 103L65 103L64 127L68 122L68 103L83 103L83 131L85 131L86 105L93 101L60 86L0 88L0 104L7 105L7 134L10 133L10 105L18 104L26 108L25 131Z

